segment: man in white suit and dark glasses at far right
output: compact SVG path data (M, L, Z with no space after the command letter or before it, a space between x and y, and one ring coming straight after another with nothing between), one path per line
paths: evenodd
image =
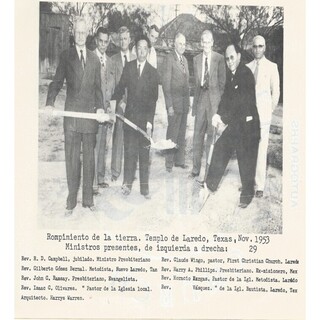
M256 81L257 108L260 116L261 139L259 143L256 169L256 197L261 198L266 181L267 150L272 112L280 97L280 81L278 67L268 60L264 53L266 42L262 36L253 38L252 51L254 60L247 64Z

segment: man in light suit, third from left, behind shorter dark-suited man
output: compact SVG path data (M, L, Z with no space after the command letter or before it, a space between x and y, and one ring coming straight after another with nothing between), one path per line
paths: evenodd
M130 31L127 27L123 26L118 31L120 38L120 52L111 57L112 71L111 76L113 78L114 87L116 87L120 81L124 66L136 58L136 55L129 50L129 44L131 42ZM117 99L116 113L123 115L126 108L126 99L124 97ZM123 157L123 122L116 119L116 123L113 129L112 140L112 158L111 158L111 180L116 181L121 173L122 157Z

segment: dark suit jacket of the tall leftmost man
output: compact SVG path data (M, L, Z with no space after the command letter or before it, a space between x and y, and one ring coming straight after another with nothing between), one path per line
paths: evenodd
M67 84L66 111L95 113L97 109L103 108L100 61L92 51L87 50L84 70L75 47L61 53L56 74L49 85L46 105L54 105L65 79ZM64 118L64 130L66 131L96 133L97 129L96 120Z

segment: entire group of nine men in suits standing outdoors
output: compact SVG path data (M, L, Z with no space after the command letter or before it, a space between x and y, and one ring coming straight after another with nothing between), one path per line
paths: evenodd
M54 105L55 98L66 80L65 110L98 113L98 121L64 119L68 215L72 214L77 204L81 149L83 207L94 211L94 193L97 193L99 188L108 187L105 181L105 151L108 127L111 124L106 122L104 115L110 112L111 99L116 100L116 113L124 115L151 136L158 85L161 81L168 115L167 139L178 145L178 148L166 153L165 167L169 173L173 166L183 169L188 167L185 163L185 134L191 106L189 68L184 56L185 36L182 33L175 36L174 49L166 56L162 77L159 79L156 55L154 57L154 54L151 54L153 51L155 53L152 48L159 30L151 27L147 36L139 36L132 51L129 50L129 29L121 27L118 33L119 53L111 58L106 55L109 35L105 28L98 29L96 50L91 52L85 47L88 35L85 20L78 19L74 24L75 46L61 54L56 74L49 86L47 106ZM195 94L192 115L195 117L195 128L193 168L189 176L199 176L204 145L208 150L214 139L214 128L219 130L219 126L227 126L216 143L206 182L211 191L218 188L225 167L236 150L242 182L240 206L246 207L253 198L255 182L258 184L257 192L263 191L264 187L271 112L279 98L276 96L279 92L278 73L276 65L264 57L265 42L262 37L253 40L256 59L248 65L251 70L240 63L241 53L236 45L227 47L224 59L212 50L213 43L212 32L205 30L201 35L203 51L193 61ZM268 73L270 66L272 75ZM270 84L268 77L272 77L271 88L266 88ZM265 110L266 108L270 110ZM260 135L265 139L263 145L259 143ZM124 153L124 195L131 192L139 162L140 193L146 199L150 198L148 145L149 142L143 135L116 119L112 140L111 180L115 181L120 176ZM258 148L258 164L261 169L257 170L256 176Z

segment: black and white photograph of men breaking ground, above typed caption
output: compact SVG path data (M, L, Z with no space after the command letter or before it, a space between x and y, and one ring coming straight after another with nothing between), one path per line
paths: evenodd
M283 7L39 10L40 227L282 233Z

